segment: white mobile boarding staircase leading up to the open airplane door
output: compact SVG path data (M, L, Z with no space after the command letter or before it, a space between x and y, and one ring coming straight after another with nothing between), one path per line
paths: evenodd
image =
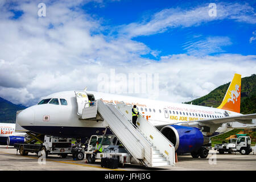
M102 118L105 126L123 144L126 150L139 164L147 167L174 166L174 145L158 129L141 114L137 119L137 128L131 122L131 105L123 102L114 105L97 100L92 106L85 104L81 115L82 120Z

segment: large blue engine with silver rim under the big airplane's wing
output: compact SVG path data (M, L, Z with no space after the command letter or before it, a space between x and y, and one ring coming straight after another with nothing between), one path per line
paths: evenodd
M177 154L197 151L203 144L209 142L196 127L169 125L162 128L161 133L175 146Z

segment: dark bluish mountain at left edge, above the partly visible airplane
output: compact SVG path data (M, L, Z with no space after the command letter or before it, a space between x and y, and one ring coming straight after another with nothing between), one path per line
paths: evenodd
M15 123L16 111L25 108L26 106L15 105L0 97L0 122Z

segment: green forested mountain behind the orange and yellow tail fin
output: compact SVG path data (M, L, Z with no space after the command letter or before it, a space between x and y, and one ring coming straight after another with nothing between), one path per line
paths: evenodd
M193 105L218 107L226 94L226 90L228 90L229 84L230 82L218 86L206 96L184 103L190 104L192 102ZM242 78L240 111L242 114L256 113L256 74Z

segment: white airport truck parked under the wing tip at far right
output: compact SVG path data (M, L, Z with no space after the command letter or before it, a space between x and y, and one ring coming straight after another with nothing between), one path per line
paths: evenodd
M214 150L217 150L220 154L224 154L224 152L229 154L240 152L242 155L249 155L252 151L251 139L247 136L233 138L229 140L229 143L216 144Z

